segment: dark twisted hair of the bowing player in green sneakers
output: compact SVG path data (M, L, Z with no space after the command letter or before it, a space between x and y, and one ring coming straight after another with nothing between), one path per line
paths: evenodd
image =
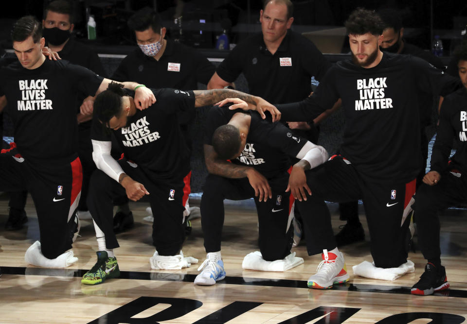
M112 117L119 118L122 115L122 97L125 96L123 86L120 83L111 82L107 90L102 91L96 96L93 114L106 127L109 126L108 122Z

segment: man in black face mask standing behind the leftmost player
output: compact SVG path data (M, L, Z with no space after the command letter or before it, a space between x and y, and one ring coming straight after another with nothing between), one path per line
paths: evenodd
M88 46L78 43L72 37L71 33L74 28L73 10L72 4L69 1L52 1L44 11L42 27L42 34L51 51L57 52L60 58L72 64L89 68L91 71L105 76L104 67L97 53L92 51ZM80 106L87 106L88 111L92 111L92 102L93 97L79 94L76 102L73 103L76 106L76 118L79 124L78 155L83 167L83 186L77 211L79 219L91 219L86 205L86 196L88 194L91 173L96 168L92 161L92 146L90 142L90 120L92 115L82 114L80 112ZM7 229L11 230L19 229L27 222L26 212L24 210L27 191L12 192L10 196L10 217L6 226Z

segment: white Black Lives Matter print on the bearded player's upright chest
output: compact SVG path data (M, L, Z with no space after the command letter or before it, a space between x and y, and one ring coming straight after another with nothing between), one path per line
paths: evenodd
M355 110L387 109L393 107L393 100L385 98L386 78L358 79L359 100L355 101Z

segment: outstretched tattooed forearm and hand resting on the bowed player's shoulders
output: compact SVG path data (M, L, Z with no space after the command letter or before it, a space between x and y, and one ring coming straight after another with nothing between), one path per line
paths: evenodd
M232 102L234 105L230 109L256 110L263 119L266 118L264 111L269 111L272 121L281 119L279 110L261 97L232 89L194 90L193 92L195 93L195 107L211 104L223 106L227 102Z

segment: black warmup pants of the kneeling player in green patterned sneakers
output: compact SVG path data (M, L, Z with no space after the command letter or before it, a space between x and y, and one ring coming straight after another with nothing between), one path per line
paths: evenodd
M153 210L152 239L161 256L175 256L180 254L185 231L183 226L183 178L155 179L150 171L145 170L134 162L122 158L118 161L122 169L133 180L142 183L149 191L147 198ZM113 200L126 195L125 188L108 177L103 171L92 173L88 208L93 220L106 236L108 249L119 247L113 232Z

